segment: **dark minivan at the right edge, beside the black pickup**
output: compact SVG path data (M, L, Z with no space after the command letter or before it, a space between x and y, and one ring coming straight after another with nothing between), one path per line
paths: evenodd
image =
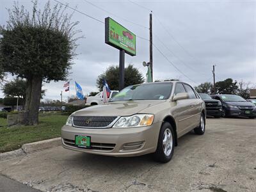
M222 116L248 116L256 117L256 106L238 95L211 95L212 99L222 103Z

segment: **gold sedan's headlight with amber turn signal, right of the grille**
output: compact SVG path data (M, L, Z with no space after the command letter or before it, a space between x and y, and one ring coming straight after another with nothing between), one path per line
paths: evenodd
M154 115L137 114L132 116L122 116L113 127L143 127L152 125Z

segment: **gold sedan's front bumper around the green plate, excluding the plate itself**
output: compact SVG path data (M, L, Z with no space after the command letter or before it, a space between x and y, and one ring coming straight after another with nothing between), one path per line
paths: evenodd
M161 122L147 127L84 129L68 125L61 128L61 138L64 148L99 154L103 156L131 157L141 156L156 151ZM91 137L91 148L81 148L74 145L75 136Z

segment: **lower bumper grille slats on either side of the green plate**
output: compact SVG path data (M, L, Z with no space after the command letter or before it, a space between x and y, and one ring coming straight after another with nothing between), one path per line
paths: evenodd
M70 145L72 147L76 147L75 141L74 140L67 140L63 139L63 142L65 145ZM104 151L110 151L115 148L116 144L115 143L91 143L90 148L86 148L88 150L104 150ZM79 148L79 147L77 147Z

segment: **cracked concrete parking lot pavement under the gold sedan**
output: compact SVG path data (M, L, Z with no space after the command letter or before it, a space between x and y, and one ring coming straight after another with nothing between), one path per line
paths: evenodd
M256 191L256 119L207 118L166 164L56 147L3 161L0 174L42 191Z

